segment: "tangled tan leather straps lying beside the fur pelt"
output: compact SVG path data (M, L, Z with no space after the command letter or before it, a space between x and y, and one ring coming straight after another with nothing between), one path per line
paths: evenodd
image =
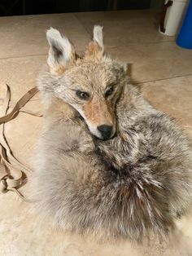
M21 109L25 104L27 104L28 100L37 94L37 92L37 87L28 90L28 92L15 104L11 113L7 114L11 100L11 90L10 87L7 86L7 95L4 100L4 104L2 105L2 117L0 117L0 192L16 192L25 201L28 200L18 191L18 188L20 188L20 186L26 181L23 179L23 172L31 172L32 170L20 163L20 161L18 161L12 154L4 135L4 126L7 121L14 119L21 111L41 117L40 113L28 112L27 110Z

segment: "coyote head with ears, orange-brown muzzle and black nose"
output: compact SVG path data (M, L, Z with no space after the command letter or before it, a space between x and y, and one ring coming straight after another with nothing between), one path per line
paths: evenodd
M55 86L50 83L49 89L76 109L92 135L111 139L116 134L116 102L128 77L125 64L104 54L102 30L94 26L93 41L83 58L58 30L47 31L47 63L55 79Z

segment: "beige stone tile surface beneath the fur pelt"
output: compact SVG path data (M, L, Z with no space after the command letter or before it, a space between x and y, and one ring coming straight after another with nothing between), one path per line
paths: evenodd
M5 83L11 86L11 105L35 85L48 46L45 31L61 29L83 51L94 24L103 24L107 52L131 64L133 82L156 108L176 117L192 138L192 51L176 46L174 38L155 29L155 11L113 11L0 18L0 104ZM41 109L38 96L28 109ZM20 161L32 166L41 117L24 113L6 125L11 149ZM28 174L30 179L30 174ZM28 195L28 184L22 188ZM130 241L98 243L91 238L54 232L40 225L33 204L14 193L0 195L1 256L191 256L192 217L177 223L167 241L135 245Z

